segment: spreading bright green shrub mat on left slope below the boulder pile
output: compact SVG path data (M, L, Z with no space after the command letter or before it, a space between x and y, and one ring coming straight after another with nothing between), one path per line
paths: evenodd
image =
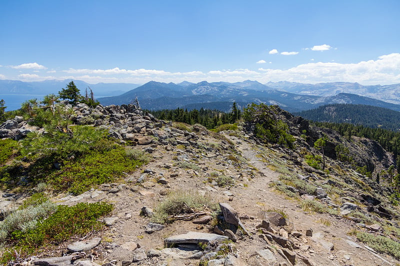
M57 190L77 195L93 185L112 182L142 164L123 147L115 146L110 150L90 151L76 161L64 161L62 169L51 174L49 180Z

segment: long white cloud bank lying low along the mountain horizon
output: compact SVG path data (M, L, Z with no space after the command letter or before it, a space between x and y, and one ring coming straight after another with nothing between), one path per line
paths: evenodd
M199 82L207 80L237 82L246 79L261 83L268 81L294 81L301 83L319 82L358 82L364 85L400 83L400 53L382 55L375 60L357 63L314 62L299 64L289 69L242 68L233 70L209 70L168 72L157 69L74 69L57 71L57 76L40 76L39 74L22 73L17 79L23 81L40 81L46 79L79 79L88 83L125 82L143 84L150 80L160 82ZM55 74L53 74L55 75ZM7 75L8 78L10 78ZM5 79L0 74L0 79ZM11 78L10 78L11 79Z

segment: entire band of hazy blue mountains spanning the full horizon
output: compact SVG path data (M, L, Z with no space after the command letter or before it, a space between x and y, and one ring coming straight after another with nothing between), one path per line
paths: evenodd
M69 82L70 80L36 82L0 80L0 94L57 93ZM150 81L144 85L88 84L81 80L74 80L74 82L81 94L84 94L85 88L90 87L96 99L103 105L126 104L137 96L141 106L150 110L178 107L190 110L203 107L228 111L232 102L236 101L239 107L244 107L251 102L277 104L289 112L309 110L333 103L366 104L400 111L400 84L363 86L346 82L302 84L287 81L261 84L250 80L235 83L183 81L178 84Z

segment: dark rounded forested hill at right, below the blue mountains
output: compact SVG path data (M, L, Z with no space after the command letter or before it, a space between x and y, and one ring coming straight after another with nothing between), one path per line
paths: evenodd
M319 122L350 123L393 131L400 129L400 112L371 105L328 104L295 115Z

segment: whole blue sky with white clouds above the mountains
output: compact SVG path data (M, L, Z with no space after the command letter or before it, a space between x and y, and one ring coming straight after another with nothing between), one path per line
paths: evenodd
M400 83L398 0L1 0L0 79Z

